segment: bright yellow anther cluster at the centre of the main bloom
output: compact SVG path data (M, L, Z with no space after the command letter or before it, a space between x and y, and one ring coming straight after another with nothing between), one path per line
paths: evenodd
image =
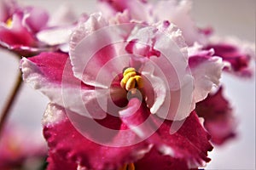
M138 75L135 68L129 67L125 69L123 73L123 78L120 82L120 86L129 91L132 88L143 88L143 78Z

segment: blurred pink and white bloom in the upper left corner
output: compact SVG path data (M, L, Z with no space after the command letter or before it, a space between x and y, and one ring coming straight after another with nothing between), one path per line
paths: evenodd
M20 7L15 2L9 4L7 1L0 3L0 7L3 8L1 13L4 16L0 24L0 46L2 48L8 48L19 55L30 56L42 51L57 50L57 45L67 42L71 34L70 29L75 21L70 11L61 10L61 15L70 14L71 16L65 20L65 25L60 16L58 18L53 16L49 19L49 14L43 8ZM52 25L52 20L60 25ZM55 36L51 35L51 37L58 40L50 41L52 38L49 38L48 31L55 31ZM48 42L45 41L46 36L49 38Z

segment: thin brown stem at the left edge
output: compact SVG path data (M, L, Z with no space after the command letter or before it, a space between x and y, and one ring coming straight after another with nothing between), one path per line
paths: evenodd
M1 118L0 118L0 137L1 137L1 133L3 133L3 127L7 122L10 110L13 104L15 103L17 94L19 94L21 85L22 85L22 76L21 76L21 72L19 71L19 76L16 79L15 87L13 88L11 94L9 95L9 98L7 99L5 105L3 106L3 111L1 113Z

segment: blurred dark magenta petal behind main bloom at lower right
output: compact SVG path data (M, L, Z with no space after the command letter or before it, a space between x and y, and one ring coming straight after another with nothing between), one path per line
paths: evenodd
M212 136L212 143L224 144L236 136L237 122L229 101L223 96L223 88L199 102L196 113L205 119L204 126Z

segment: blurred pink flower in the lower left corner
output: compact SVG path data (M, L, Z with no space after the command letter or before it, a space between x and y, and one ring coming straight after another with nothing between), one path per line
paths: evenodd
M46 156L46 144L38 134L9 124L5 127L0 139L1 169L39 169Z

